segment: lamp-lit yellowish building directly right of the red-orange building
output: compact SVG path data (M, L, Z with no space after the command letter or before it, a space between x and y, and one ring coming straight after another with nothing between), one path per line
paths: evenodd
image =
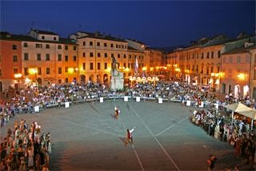
M24 36L21 41L25 84L77 81L78 45L75 42L42 30L30 30L28 36Z

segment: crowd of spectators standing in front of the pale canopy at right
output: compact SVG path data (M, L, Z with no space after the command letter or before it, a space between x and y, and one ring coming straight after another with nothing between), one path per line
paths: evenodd
M210 136L229 143L236 157L246 159L251 169L256 169L256 132L250 128L246 117L234 116L233 124L226 120L226 113L219 110L198 109L191 115L194 125L202 127Z

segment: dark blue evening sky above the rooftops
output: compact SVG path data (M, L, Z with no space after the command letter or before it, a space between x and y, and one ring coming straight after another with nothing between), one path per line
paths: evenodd
M241 32L253 34L254 1L1 1L1 31L26 34L31 27L66 38L78 30L134 38L149 46Z

